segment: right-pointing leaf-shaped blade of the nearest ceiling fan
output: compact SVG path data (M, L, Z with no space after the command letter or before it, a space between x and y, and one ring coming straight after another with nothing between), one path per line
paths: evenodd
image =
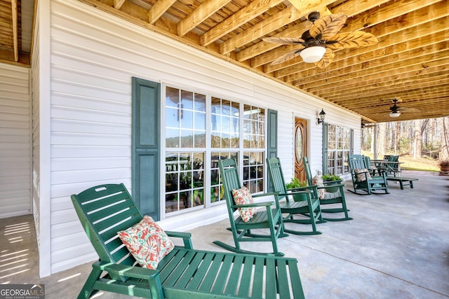
M368 32L344 32L335 34L333 41L326 42L326 47L332 50L361 48L373 46L378 42L377 37Z

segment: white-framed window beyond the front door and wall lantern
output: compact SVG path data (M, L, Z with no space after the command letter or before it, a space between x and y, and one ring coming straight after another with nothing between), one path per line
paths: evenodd
M347 174L351 152L351 130L338 125L328 125L328 174Z

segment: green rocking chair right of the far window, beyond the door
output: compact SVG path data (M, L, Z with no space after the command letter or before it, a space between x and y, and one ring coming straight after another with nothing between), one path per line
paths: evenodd
M352 193L362 195L369 195L375 190L384 190L388 194L387 176L384 173L371 176L365 161L363 155L349 155L348 162L354 191L348 190ZM366 193L358 193L358 190Z

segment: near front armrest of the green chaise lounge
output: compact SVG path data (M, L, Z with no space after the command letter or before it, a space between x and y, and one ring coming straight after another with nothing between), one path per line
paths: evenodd
M121 277L123 281L126 281L129 278L156 279L159 276L159 270L131 265L119 265L116 263L98 261L92 266L99 267L101 270L112 274L112 276Z

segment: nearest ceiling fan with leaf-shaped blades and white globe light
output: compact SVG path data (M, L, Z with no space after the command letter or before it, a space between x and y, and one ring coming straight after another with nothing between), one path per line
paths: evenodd
M274 60L271 65L291 60L298 55L304 62L314 63L323 69L333 61L333 50L360 48L375 45L377 38L367 32L340 32L347 20L347 15L324 15L320 18L319 12L310 13L308 20L312 23L309 30L301 38L297 37L267 37L263 41L268 43L281 43L283 45L300 45L301 47L290 51Z

